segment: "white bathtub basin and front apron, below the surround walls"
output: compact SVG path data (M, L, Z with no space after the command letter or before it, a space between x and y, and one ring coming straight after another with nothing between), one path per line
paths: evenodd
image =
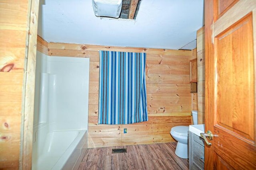
M77 170L87 149L87 131L52 131L40 125L33 144L32 170Z

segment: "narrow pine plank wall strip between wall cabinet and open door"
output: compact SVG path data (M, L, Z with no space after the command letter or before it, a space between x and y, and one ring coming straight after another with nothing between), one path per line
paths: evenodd
M197 39L197 109L198 124L204 124L204 84L205 84L205 53L204 53L204 27L196 33Z

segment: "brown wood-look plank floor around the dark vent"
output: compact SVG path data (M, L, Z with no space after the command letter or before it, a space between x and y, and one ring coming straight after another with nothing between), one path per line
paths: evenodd
M176 156L176 142L92 148L86 150L79 170L188 170L188 159ZM127 148L127 153L114 153Z

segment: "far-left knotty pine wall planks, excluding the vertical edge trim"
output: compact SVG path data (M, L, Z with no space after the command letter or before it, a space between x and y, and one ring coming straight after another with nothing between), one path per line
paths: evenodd
M18 169L28 0L0 5L0 167Z

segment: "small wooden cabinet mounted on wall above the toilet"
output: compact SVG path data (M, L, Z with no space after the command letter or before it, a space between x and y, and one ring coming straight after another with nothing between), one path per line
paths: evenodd
M197 59L189 61L190 92L197 92Z

